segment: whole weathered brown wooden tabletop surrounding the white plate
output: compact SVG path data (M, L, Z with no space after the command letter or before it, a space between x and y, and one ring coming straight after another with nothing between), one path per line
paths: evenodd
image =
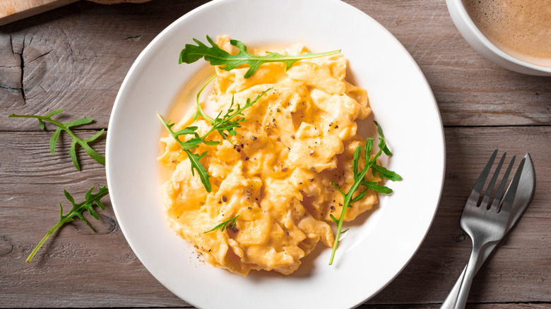
M112 207L65 226L25 262L59 219L66 189L77 201L106 184L105 167L80 153L76 171L62 136L49 153L47 114L107 128L114 98L136 56L167 25L205 1L153 0L105 6L78 1L0 27L1 307L189 308L146 270ZM523 219L473 283L469 308L551 308L551 78L521 75L475 52L451 22L444 0L349 0L390 30L427 76L446 135L444 193L432 228L403 272L361 308L438 308L468 260L459 227L468 193L495 147L530 152L538 177ZM422 119L420 119L422 121ZM419 135L422 151L422 132ZM94 145L105 154L105 135ZM429 164L429 162L427 162ZM436 189L436 188L435 188ZM230 305L232 307L232 305ZM259 307L260 308L260 307Z

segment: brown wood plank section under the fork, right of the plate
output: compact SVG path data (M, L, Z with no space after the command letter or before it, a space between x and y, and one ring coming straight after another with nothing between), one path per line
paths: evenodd
M446 298L470 255L470 239L459 226L461 212L494 147L509 155L530 152L537 183L523 218L475 277L469 301L550 302L551 167L545 149L551 145L551 128L446 128L445 134L446 178L437 217L403 274L369 303L439 303Z

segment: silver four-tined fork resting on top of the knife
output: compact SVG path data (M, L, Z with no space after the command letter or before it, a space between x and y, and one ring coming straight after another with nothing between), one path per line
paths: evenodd
M521 160L515 176L507 189L507 193L502 199L503 190L515 161L516 156L513 156L511 163L507 167L502 181L499 184L499 188L497 188L492 205L488 207L494 185L499 176L499 171L501 170L505 160L505 152L497 164L494 175L492 176L492 179L487 186L486 193L482 198L482 202L478 202L486 179L488 175L490 175L490 170L492 169L496 155L497 149L494 150L494 153L492 154L492 157L490 157L490 160L486 164L482 174L478 177L478 181L476 181L475 187L470 192L465 209L461 215L461 229L463 229L463 231L465 231L473 241L473 251L470 253L466 274L465 277L463 277L461 289L459 290L454 308L465 308L470 290L470 284L473 281L477 261L480 257L480 251L482 248L490 243L497 243L503 238L507 223L509 222L511 208L516 195L516 189L519 186L519 179L521 177L521 172L525 161L524 158Z

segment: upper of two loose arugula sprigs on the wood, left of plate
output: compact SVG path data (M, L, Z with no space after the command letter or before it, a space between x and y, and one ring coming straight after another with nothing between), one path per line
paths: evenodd
M45 130L44 121L47 121L49 123L54 123L54 125L57 126L56 131L54 132L54 135L52 135L52 138L49 140L49 151L52 154L55 154L56 152L56 145L57 140L59 138L59 134L61 131L65 131L66 133L69 133L71 135L71 138L73 138L73 141L71 142L71 149L69 150L69 155L71 156L71 160L73 161L73 165L78 169L81 170L81 166L78 165L78 159L76 157L76 145L81 145L83 147L84 151L92 157L92 159L95 159L98 163L105 165L105 157L103 157L101 154L98 154L95 150L88 145L88 143L93 142L97 138L102 135L104 129L101 129L101 131L95 133L91 138L88 138L86 140L83 140L76 136L73 131L71 131L71 128L74 126L82 126L83 124L90 123L93 121L91 118L80 118L76 119L75 121L71 121L69 123L60 123L59 121L55 121L52 119L52 116L55 116L57 114L61 114L63 112L63 109L56 109L55 111L52 111L51 113L47 114L46 116L39 116L39 115L16 115L11 114L10 117L12 118L36 118L38 119L38 124L40 125L40 128L42 130Z

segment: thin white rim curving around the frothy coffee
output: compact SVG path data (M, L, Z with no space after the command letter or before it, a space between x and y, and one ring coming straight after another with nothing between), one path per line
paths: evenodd
M502 51L502 49L499 49L498 47L496 47L492 42L490 42L490 40L487 39L487 37L482 33L482 31L480 31L480 29L478 29L478 27L475 25L473 20L470 18L469 13L467 12L467 9L465 8L465 5L463 4L463 0L446 0L446 4L448 6L448 11L450 11L450 3L455 4L456 9L457 9L457 13L459 14L460 18L463 20L463 23L465 23L465 25L468 27L470 32L475 36L475 38L478 41L480 41L487 49L490 49L490 52L492 52L496 56L501 57L505 61L515 63L518 66L523 66L525 68L530 68L532 70L539 71L541 73L547 73L547 74L551 73L551 68L550 67L538 66L537 64L533 64L533 63L523 61L521 59L517 59L514 56L511 56L511 55L507 54L506 52ZM451 11L450 11L450 14L451 14ZM454 16L452 15L452 19L453 19L453 17ZM454 20L454 23L456 23L455 20ZM456 28L458 28L459 32L461 32L461 28L458 27L458 25L456 25L456 26L457 26ZM463 33L461 33L461 34L463 35ZM465 35L463 35L463 37L465 37ZM470 44L470 42L469 42L469 44ZM473 48L475 48L475 47L473 47ZM477 52L480 52L478 49L476 49L476 50L477 50ZM483 56L486 56L484 53L481 53L481 54ZM492 59L489 59L489 60L493 62ZM499 63L497 63L497 64L499 64ZM508 69L511 70L511 68L508 68ZM516 71L516 70L513 70L513 71ZM524 73L524 72L520 72L520 73Z

